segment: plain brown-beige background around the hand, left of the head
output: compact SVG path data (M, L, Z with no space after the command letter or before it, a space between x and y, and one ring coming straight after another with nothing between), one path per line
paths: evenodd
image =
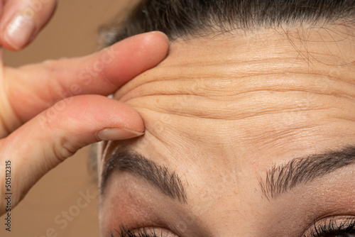
M5 53L6 65L13 67L59 57L77 57L97 51L97 29L115 16L127 12L129 0L59 0L54 18L45 30L21 53ZM4 231L1 216L0 236L99 236L97 197L79 209L67 227L56 224L62 211L77 211L80 194L97 195L97 183L87 171L88 149L80 150L55 170L50 171L31 189L23 202L12 211L12 231ZM82 202L84 205L85 202ZM72 212L74 213L74 212Z

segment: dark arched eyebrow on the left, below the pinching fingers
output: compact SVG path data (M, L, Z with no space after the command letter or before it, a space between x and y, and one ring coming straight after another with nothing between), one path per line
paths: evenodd
M185 188L175 172L148 160L141 154L121 149L114 151L104 163L100 185L101 194L104 194L107 180L114 170L129 171L148 181L163 194L178 199L182 203L187 203Z

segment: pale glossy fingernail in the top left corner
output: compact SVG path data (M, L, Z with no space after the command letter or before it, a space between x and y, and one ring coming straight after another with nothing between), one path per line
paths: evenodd
M5 40L18 50L28 43L34 31L35 23L32 18L17 15L6 28Z

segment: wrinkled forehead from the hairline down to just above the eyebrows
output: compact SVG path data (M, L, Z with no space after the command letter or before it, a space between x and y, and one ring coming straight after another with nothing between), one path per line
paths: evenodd
M231 144L239 154L271 149L275 157L320 149L329 137L342 145L352 139L346 140L355 116L349 32L329 26L178 40L164 62L126 84L116 99L141 113L142 140L167 150L164 157L183 159L191 150L222 155Z

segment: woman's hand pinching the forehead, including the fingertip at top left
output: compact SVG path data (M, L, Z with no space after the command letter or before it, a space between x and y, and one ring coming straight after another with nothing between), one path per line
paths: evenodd
M28 43L16 34L10 39L4 29L16 15L16 8L29 2L43 4L35 13L31 37L53 13L55 1L2 1L0 38L4 47L18 50ZM25 26L29 25L23 25L21 31L28 31ZM11 193L13 208L40 177L85 145L143 134L141 116L106 96L157 65L167 52L166 36L153 32L122 40L87 57L51 60L18 69L1 63L0 215L6 211L6 192ZM11 184L6 190L9 170Z

